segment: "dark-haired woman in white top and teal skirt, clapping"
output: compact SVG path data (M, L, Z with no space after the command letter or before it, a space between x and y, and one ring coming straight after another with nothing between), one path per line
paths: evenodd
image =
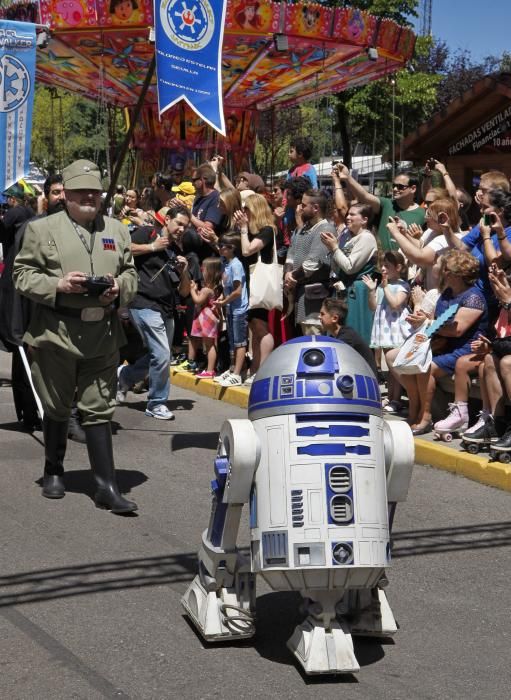
M368 230L372 209L367 204L352 204L346 215L347 228L337 238L322 233L321 241L331 253L332 273L340 280L342 296L348 304L344 321L369 343L373 327L373 313L369 311L368 289L362 277L371 275L376 268L378 247L376 238Z

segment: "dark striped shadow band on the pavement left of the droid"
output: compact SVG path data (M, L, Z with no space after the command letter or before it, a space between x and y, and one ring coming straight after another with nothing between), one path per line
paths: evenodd
M187 583L197 553L78 564L0 576L0 607L108 591Z

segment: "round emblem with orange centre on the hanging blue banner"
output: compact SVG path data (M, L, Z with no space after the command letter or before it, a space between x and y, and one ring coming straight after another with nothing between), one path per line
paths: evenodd
M160 21L172 43L190 51L207 46L215 30L209 0L164 0L160 5Z

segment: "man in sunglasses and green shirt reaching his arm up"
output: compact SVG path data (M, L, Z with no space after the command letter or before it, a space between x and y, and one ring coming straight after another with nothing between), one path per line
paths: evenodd
M339 178L344 180L352 195L361 204L369 204L375 216L378 217L378 238L383 250L398 250L399 246L391 237L387 224L389 216L398 216L408 226L418 224L423 227L425 222L424 209L415 201L418 180L412 173L399 173L392 182L392 199L377 197L368 192L350 175L344 163L338 164Z

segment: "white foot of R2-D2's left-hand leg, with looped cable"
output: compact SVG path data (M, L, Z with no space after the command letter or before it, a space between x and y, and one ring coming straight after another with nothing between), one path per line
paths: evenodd
M250 585L248 580L247 585ZM181 604L207 642L229 642L255 634L250 606L234 589L208 591L196 576L181 598Z

